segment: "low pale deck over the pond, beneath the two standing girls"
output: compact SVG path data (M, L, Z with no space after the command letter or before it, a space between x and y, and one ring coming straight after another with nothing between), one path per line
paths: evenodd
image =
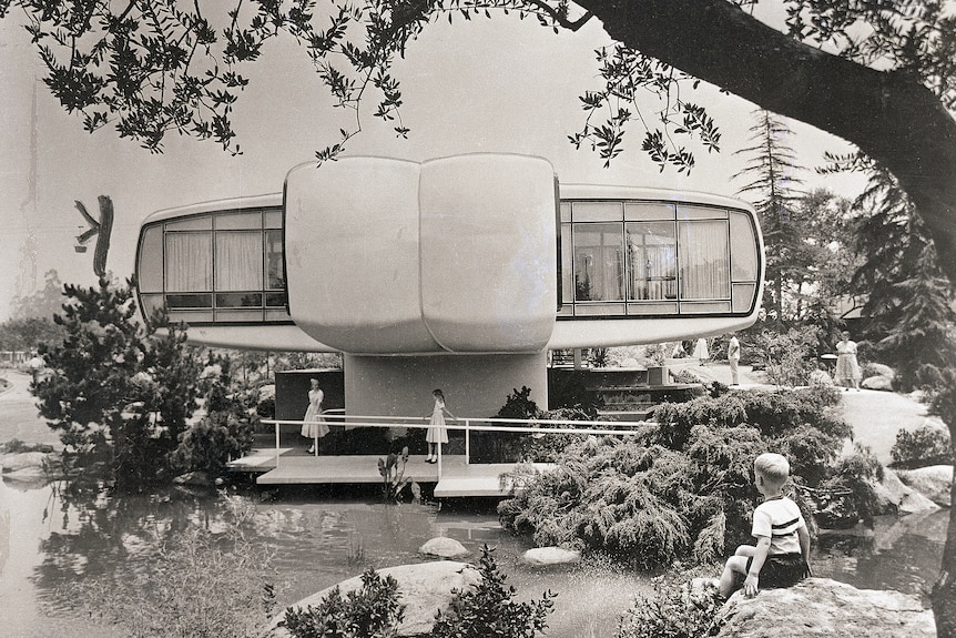
M279 448L276 466L275 448L257 449L234 460L230 468L234 472L260 473L258 485L327 485L380 483L378 459L382 455L366 456L313 456L291 448ZM438 464L425 463L424 455L408 457L405 476L418 483L435 483L435 498L467 496L507 496L511 485L504 486L500 476L515 468L513 463L471 464L465 463L461 455L446 455L441 458L441 476ZM547 472L549 464L535 464Z

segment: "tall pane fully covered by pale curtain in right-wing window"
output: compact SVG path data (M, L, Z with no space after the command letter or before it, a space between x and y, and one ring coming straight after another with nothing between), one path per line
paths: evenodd
M679 242L681 298L729 300L726 221L681 222Z

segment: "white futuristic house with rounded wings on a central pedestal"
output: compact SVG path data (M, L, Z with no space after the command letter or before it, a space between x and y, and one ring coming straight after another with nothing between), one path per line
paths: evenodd
M547 405L549 350L751 325L763 246L741 202L559 184L540 158L348 158L154 213L136 275L193 342L344 353L352 414L425 414L441 387L487 416L522 385Z

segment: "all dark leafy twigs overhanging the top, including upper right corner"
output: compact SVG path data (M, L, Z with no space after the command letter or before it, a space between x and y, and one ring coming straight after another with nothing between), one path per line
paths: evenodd
M759 0L731 3L745 11L760 6ZM175 0L0 0L0 17L12 8L26 16L47 67L44 82L68 112L81 114L88 131L112 124L121 138L153 152L161 152L166 133L175 132L241 153L232 117L250 82L246 69L265 55L271 39L291 37L335 107L350 113L339 139L316 153L323 162L334 160L363 130L368 100L374 105L367 112L396 135L408 136L401 85L390 70L429 23L517 16L555 32L576 31L593 17L587 10L591 4L597 10L602 2L333 0L323 16L313 0L235 0L214 9L206 3L205 13L199 2ZM953 108L956 22L939 2L866 0L852 10L832 0L783 4L792 38L836 49L861 64L905 69ZM694 166L691 141L708 152L720 150L713 119L687 99L700 80L621 43L598 50L597 63L602 87L580 98L584 123L569 135L576 148L589 146L608 165L637 122L642 151L661 170L689 172Z

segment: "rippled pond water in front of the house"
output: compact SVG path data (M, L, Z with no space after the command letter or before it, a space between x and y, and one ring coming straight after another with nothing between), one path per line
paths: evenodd
M424 560L417 549L435 536L459 540L475 556L487 544L520 598L558 595L549 619L555 638L610 638L637 593L649 594L647 574L606 565L540 569L518 563L531 545L498 524L491 502L385 505L374 490L328 488L237 492L255 504L253 539L275 548L278 602L306 596L360 573ZM0 627L22 638L122 634L79 616L64 586L89 576L135 568L170 534L223 526L214 494L170 490L156 495L65 498L55 485L26 488L0 482ZM924 595L939 567L947 512L887 517L863 534L826 536L814 550L817 576L860 588ZM79 617L78 617L79 616Z

